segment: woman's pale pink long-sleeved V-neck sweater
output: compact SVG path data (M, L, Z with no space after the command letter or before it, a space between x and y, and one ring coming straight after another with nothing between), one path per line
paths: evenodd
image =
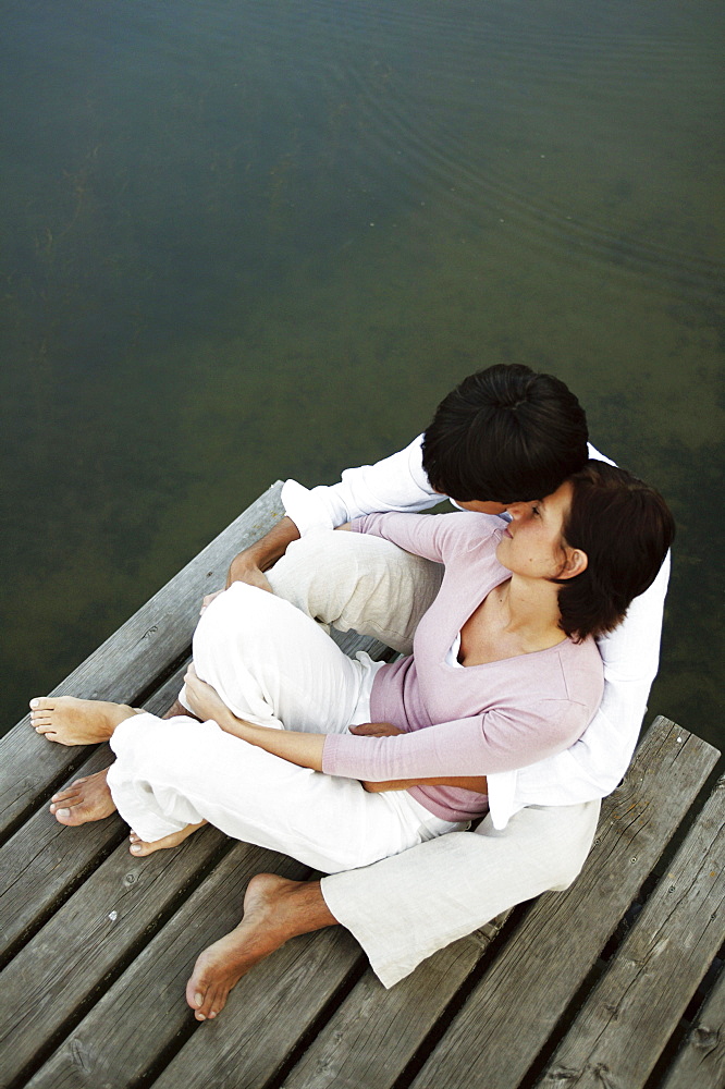
M413 656L384 665L370 699L373 722L404 734L325 738L322 769L348 779L488 775L563 751L583 733L602 698L602 661L593 639L499 662L457 669L445 657L490 590L509 577L495 558L505 526L486 514L370 514L353 529L373 534L445 565L435 601L416 632ZM484 795L450 786L410 794L443 820L467 821L488 808Z

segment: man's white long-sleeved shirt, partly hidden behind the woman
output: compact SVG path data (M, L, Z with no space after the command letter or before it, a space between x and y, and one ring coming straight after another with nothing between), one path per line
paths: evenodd
M441 502L422 467L422 436L396 454L345 469L340 484L311 490L287 480L282 502L304 536L316 527L383 511L425 511ZM589 456L609 461L592 445ZM654 583L636 598L614 632L597 643L604 663L604 696L599 711L572 748L519 771L488 776L495 828L524 806L566 806L610 794L624 775L637 744L647 699L658 672L669 555Z

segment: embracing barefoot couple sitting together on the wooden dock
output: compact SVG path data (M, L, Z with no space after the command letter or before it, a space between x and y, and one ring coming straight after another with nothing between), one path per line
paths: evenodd
M443 497L464 513L419 513ZM48 741L116 756L56 795L62 823L118 808L144 855L210 822L328 874L253 879L188 981L200 1020L295 934L347 927L390 987L569 885L658 668L672 515L588 445L552 376L472 375L404 451L282 498L204 609L165 719L30 705ZM330 624L403 657L351 660Z

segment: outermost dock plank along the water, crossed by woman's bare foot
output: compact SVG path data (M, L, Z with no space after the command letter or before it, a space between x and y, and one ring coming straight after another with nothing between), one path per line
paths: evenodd
M106 643L71 673L54 695L135 702L191 645L205 594L223 585L230 560L282 516L278 481L194 558ZM32 694L29 694L32 695ZM88 757L84 748L51 745L24 718L0 738L0 834L14 831L39 797Z

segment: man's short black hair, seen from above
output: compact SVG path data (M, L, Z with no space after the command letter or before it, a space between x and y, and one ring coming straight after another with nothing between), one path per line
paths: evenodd
M587 417L574 393L519 364L464 379L435 409L422 445L430 484L459 502L542 499L587 456Z

